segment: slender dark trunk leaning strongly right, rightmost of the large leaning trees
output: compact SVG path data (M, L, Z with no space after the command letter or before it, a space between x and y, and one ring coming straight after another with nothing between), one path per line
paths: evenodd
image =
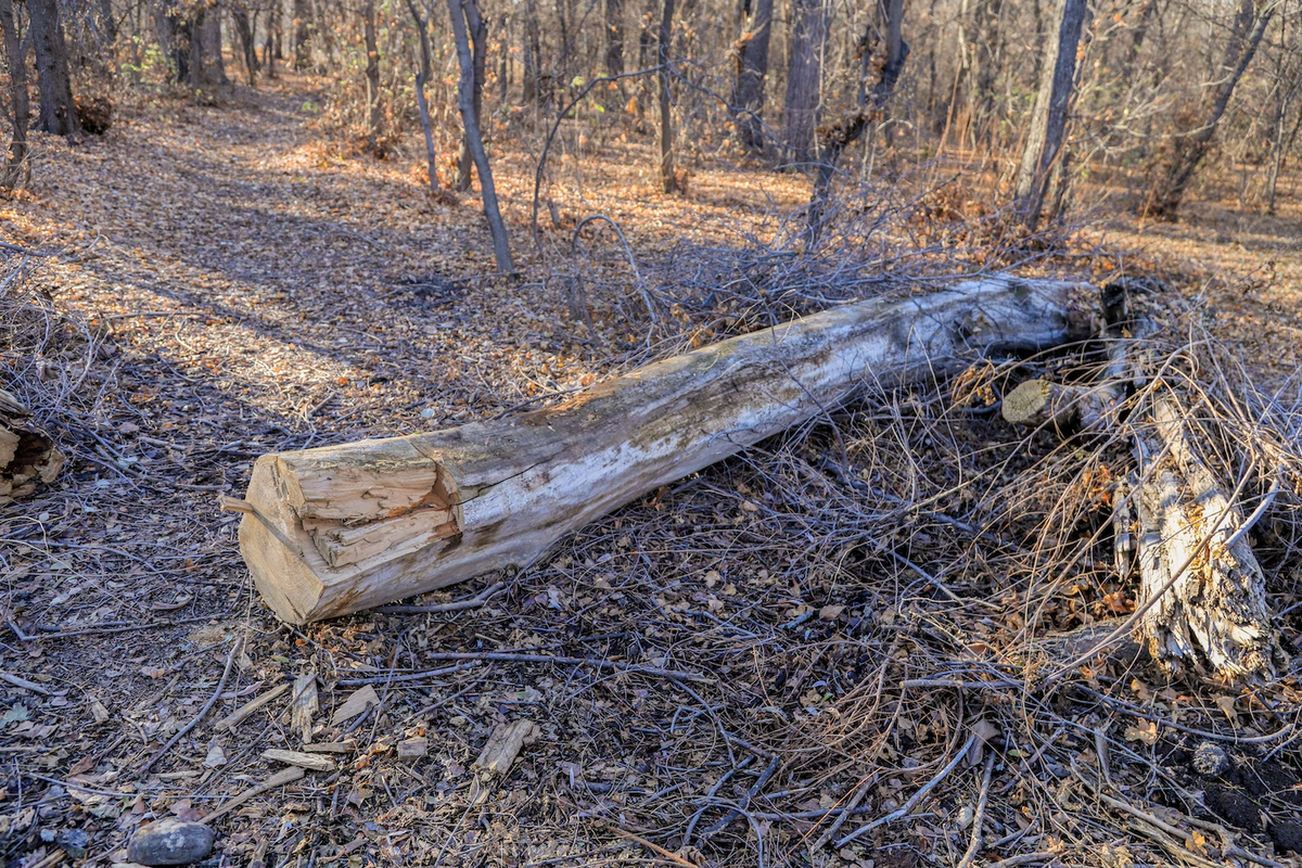
M1256 53L1256 47L1266 35L1266 27L1271 23L1271 17L1279 4L1258 0L1240 0L1238 14L1230 31L1229 43L1221 55L1217 69L1219 83L1208 88L1206 98L1198 112L1194 115L1197 126L1177 130L1169 156L1160 170L1144 215L1157 220L1174 220L1180 211L1180 203L1185 198L1185 190L1203 161L1203 156L1211 148L1212 137L1216 135L1216 125L1229 107L1234 87L1247 70L1247 64Z

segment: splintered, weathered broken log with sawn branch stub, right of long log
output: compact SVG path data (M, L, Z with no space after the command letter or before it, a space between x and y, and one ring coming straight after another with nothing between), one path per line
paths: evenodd
M1131 323L1122 337L1124 310L1104 292L1113 325L1100 381L1022 383L1004 398L1004 419L1064 435L1124 431L1135 463L1112 495L1112 524L1121 578L1139 574L1135 639L1173 674L1268 681L1284 658L1243 513L1199 455L1177 392L1150 379L1154 327Z

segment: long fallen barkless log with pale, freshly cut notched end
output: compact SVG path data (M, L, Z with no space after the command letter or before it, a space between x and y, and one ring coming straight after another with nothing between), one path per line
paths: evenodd
M1087 336L1078 284L1006 276L837 307L647 366L555 409L263 455L240 548L306 623L527 563L562 535L863 388Z

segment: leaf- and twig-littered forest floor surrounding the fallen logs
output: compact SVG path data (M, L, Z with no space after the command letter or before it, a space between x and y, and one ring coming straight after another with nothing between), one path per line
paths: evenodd
M664 197L638 137L575 133L538 247L536 155L496 159L519 275L491 277L474 202L431 200L414 150L342 154L312 86L120 105L102 139L39 138L34 185L0 203L0 385L69 458L0 511L7 864L125 861L141 824L256 787L263 751L305 740L289 696L215 724L305 675L332 766L215 821L212 864L1294 859L1297 666L1220 690L1121 643L1064 669L1135 605L1107 532L1117 446L1026 436L999 398L1096 347L870 392L518 574L406 601L424 612L276 622L216 502L267 452L535 409L852 298L1141 275L1169 288L1160 344L1199 384L1211 461L1272 462L1243 491L1271 498L1254 536L1292 652L1294 206L1026 238L937 164L844 194L809 252L802 176L702 163ZM483 777L517 720L533 740Z

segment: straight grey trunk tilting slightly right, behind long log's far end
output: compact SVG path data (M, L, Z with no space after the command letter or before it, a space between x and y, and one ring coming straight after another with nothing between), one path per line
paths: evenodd
M1049 178L1066 139L1068 111L1075 81L1075 49L1081 42L1086 10L1086 0L1061 0L1057 39L1049 43L1049 56L1042 66L1040 88L1031 111L1013 203L1018 220L1032 232L1040 221Z

